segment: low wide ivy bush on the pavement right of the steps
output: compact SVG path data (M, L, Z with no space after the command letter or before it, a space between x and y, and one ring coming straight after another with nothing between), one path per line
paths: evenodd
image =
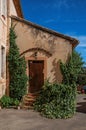
M69 118L75 113L76 86L47 82L34 109L47 118Z

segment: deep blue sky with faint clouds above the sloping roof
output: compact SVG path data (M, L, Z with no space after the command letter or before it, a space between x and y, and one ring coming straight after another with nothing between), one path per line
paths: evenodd
M26 20L77 38L86 62L86 0L21 0L21 6Z

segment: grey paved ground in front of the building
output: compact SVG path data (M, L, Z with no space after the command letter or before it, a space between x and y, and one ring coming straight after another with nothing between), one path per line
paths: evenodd
M0 130L86 130L86 95L77 96L71 119L46 119L31 110L0 110Z

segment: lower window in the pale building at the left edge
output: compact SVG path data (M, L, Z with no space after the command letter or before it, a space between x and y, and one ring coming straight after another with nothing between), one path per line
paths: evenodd
M5 73L5 47L1 46L1 77L4 78Z

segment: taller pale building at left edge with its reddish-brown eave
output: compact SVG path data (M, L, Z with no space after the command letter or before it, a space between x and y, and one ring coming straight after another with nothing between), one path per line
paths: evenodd
M23 17L19 0L0 0L0 97L6 93L6 55L9 50L10 16Z

